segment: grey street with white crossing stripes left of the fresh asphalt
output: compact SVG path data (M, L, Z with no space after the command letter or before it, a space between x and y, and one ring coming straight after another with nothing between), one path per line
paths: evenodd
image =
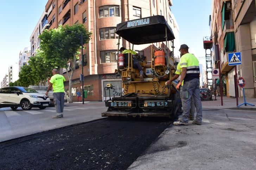
M32 108L30 111L20 107L17 111L0 108L0 141L101 119L101 113L106 109L104 102L65 104L64 118L52 119L51 116L56 115L55 107Z

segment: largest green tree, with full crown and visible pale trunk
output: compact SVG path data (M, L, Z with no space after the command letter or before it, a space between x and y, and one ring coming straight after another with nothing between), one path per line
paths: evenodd
M81 35L83 35L83 43L87 44L90 40L91 33L83 24L59 26L51 30L46 29L39 36L41 39L40 49L44 52L46 59L58 69L70 69L70 72L67 71L70 103L72 103L71 88L77 51L79 49L81 50ZM69 62L71 62L70 66L68 65Z

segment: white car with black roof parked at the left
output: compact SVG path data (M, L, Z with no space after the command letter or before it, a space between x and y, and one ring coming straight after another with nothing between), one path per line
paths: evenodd
M11 107L16 110L21 107L30 110L32 107L45 109L50 105L48 96L27 87L5 87L0 88L0 108Z

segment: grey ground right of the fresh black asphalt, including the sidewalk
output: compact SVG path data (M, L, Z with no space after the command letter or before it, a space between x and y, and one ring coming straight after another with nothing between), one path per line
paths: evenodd
M221 109L220 100L203 105L203 125L171 125L128 169L255 169L256 112ZM222 108L235 105L224 98Z

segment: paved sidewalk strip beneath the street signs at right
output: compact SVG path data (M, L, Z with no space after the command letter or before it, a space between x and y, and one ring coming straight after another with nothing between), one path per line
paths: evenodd
M216 99L214 100L215 97L212 97L212 101L202 101L202 106L204 108L218 108L218 109L230 109L230 108L237 108L236 106L236 98L229 98L229 97L223 97L223 106L221 106L221 100L220 96L217 96ZM242 104L244 102L244 98L238 98L238 105ZM256 99L246 99L246 102L253 104L255 106L241 106L240 110L256 110Z

